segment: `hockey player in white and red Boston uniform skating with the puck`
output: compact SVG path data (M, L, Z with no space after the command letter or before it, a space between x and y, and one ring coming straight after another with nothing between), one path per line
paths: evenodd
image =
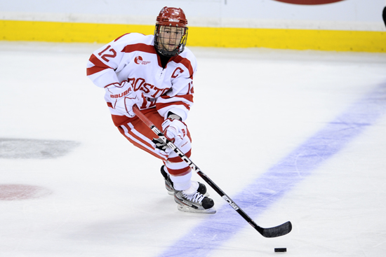
M191 137L185 120L193 104L197 61L185 47L187 19L180 8L164 7L154 35L129 33L91 55L87 76L105 89L114 125L134 146L163 160L161 174L180 211L214 214L206 186L192 181L186 162L161 141L133 113L138 106L168 140L190 157Z

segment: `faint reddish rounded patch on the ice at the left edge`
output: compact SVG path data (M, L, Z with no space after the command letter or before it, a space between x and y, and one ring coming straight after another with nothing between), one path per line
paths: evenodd
M0 201L36 199L51 193L51 190L41 186L0 184Z

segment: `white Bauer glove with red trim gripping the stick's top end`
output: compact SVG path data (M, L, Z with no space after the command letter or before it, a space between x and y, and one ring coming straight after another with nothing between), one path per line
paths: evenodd
M106 95L112 103L112 107L119 113L122 113L129 118L133 118L135 116L133 106L136 104L139 107L144 101L142 92L140 92L140 90L135 92L133 85L128 83L128 81L107 85L105 90Z

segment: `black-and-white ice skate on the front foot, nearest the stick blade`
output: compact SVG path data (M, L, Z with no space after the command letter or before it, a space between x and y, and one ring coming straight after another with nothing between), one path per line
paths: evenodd
M178 210L199 214L215 214L213 200L199 193L198 189L199 182L192 181L192 186L189 189L174 191L174 200L177 202Z

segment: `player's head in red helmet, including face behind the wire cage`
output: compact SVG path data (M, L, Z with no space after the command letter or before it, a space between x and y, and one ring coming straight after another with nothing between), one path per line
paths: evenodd
M181 8L165 6L157 16L154 47L164 56L179 55L187 41L187 19Z

